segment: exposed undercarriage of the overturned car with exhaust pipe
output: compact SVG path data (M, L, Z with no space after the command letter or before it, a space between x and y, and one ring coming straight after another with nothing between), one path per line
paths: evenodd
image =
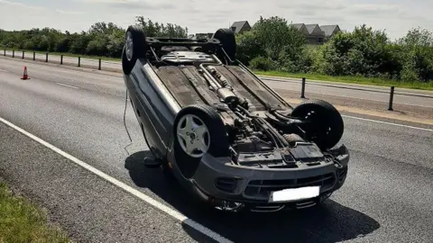
M236 165L296 168L336 161L332 152L308 141L302 129L308 121L290 117L287 103L243 67L185 50L169 51L162 60L152 67L182 107L200 103L217 109Z

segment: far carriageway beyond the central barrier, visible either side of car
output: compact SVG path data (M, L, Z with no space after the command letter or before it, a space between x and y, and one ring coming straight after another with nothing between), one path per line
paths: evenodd
M12 51L6 51L6 56L12 57ZM15 58L22 58L23 53L15 51ZM24 53L24 58L32 59L32 53ZM35 58L40 61L45 61L46 56L43 54L36 54ZM60 63L60 56L49 55L49 62ZM64 64L72 66L78 66L78 58L63 58ZM97 59L91 58L80 58L81 67L97 68L99 63ZM103 60L101 61L101 68L103 70L120 71L122 65L120 61ZM292 78L281 78L281 77L265 77L261 76L267 84L273 88L282 88L286 90L301 91L300 79ZM325 94L327 96L335 97L350 97L351 99L356 98L359 100L368 100L373 102L383 103L384 107L387 107L387 103L390 100L390 88L372 85L355 85L355 84L329 84L325 82L316 82L307 80L305 88L306 95L320 95ZM433 92L422 91L422 90L408 90L408 89L396 89L393 103L405 104L411 106L421 106L425 108L433 108Z

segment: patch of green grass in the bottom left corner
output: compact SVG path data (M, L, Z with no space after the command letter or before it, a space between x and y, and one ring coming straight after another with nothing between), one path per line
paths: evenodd
M69 238L49 227L35 205L0 183L0 242L69 242Z

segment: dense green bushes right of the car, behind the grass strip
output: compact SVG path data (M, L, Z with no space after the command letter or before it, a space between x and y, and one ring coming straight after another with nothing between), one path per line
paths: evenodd
M253 68L409 82L433 78L433 35L421 29L392 41L384 31L364 24L354 31L338 32L321 46L309 46L284 19L271 17L261 18L252 31L239 34L237 40L242 43L238 57L244 62L261 57L249 62Z

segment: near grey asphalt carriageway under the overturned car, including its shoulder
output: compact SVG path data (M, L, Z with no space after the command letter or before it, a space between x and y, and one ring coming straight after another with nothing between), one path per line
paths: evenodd
M116 76L0 59L0 117L234 242L431 242L433 130L345 117L345 186L323 208L284 214L207 211L134 162L146 147ZM0 176L31 195L85 242L210 241L0 122ZM133 165L131 171L125 164ZM171 215L172 216L172 215Z

